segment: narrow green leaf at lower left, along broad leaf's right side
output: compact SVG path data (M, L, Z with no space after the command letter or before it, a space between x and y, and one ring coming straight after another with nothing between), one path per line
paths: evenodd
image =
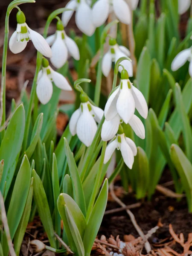
M31 178L31 184L29 188L29 193L27 196L27 201L25 205L25 209L23 211L22 218L20 220L19 226L17 227L17 231L14 236L14 248L15 253L17 256L19 256L20 247L23 241L23 237L26 232L26 227L29 221L29 216L31 212L31 204L32 204L32 198L33 198L33 177Z

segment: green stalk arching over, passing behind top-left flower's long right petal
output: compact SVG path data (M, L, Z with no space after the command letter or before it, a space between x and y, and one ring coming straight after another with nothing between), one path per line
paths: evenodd
M47 22L46 22L46 25L45 25L45 29L44 29L44 34L43 34L44 38L47 37L49 25L52 22L52 20L57 15L61 14L62 12L70 11L70 10L71 9L60 8L58 10L55 10L54 12L52 12L49 15L49 17L47 19ZM24 152L26 150L26 148L27 148L27 141L28 141L28 136L29 136L29 127L30 127L31 114L32 114L32 106L33 106L33 102L34 102L34 99L35 99L38 73L39 73L39 71L41 69L41 61L42 61L42 54L40 52L38 52L37 53L37 64L36 64L35 76L34 76L34 79L33 79L32 90L31 90L31 95L30 95L30 99L29 99L29 108L28 108L28 111L27 111L26 127L25 127L25 134L24 134L24 138L23 138L22 152ZM35 106L35 108L37 108L37 105Z

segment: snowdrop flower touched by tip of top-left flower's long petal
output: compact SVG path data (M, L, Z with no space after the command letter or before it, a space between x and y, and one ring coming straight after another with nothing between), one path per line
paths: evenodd
M61 20L57 22L57 31L54 35L50 35L46 39L49 46L52 45L52 57L50 58L51 63L56 68L61 68L65 64L68 58L68 52L70 55L79 61L79 48L76 42L64 32L64 26Z

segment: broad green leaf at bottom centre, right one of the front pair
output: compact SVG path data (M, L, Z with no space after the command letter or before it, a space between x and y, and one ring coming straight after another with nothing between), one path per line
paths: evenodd
M90 256L93 243L96 239L99 227L102 223L102 218L105 213L105 208L108 201L108 180L105 179L101 192L92 209L90 218L87 222L87 227L84 232L83 244L85 256Z

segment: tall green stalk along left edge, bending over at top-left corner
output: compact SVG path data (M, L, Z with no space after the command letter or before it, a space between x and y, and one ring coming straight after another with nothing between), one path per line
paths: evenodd
M15 0L9 4L6 12L5 19L5 37L3 44L3 58L2 58L2 75L1 75L1 116L0 116L0 125L3 125L6 121L6 65L7 65L7 49L9 41L9 15L12 12L12 9L22 3L35 3L34 0ZM1 132L1 139L3 139L5 134L5 129Z

